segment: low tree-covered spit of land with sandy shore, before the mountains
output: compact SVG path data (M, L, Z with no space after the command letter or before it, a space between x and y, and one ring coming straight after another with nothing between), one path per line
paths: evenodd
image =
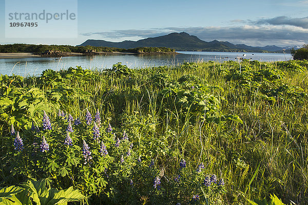
M0 45L1 57L64 57L102 54L176 54L175 49L165 47L138 47L132 49L110 48L101 46L69 45Z

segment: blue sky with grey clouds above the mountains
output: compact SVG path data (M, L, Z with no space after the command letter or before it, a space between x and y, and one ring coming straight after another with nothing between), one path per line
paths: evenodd
M0 0L0 44L75 46L87 39L121 42L183 31L207 42L216 39L249 46L300 46L308 43L308 0L74 1L76 4L78 1L75 5L78 8L78 27L75 30L50 24L50 29L55 32L52 35L38 37L40 32L37 30L33 35L19 32L20 36L27 37L11 38L12 35L5 32L6 1ZM34 0L24 2L29 4L29 8L41 9L33 3ZM65 3L57 5L59 10L67 7ZM74 35L61 35L63 33Z

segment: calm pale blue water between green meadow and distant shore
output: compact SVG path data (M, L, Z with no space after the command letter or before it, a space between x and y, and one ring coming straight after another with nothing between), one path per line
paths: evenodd
M129 68L171 66L184 63L185 61L213 60L225 61L236 60L243 57L260 61L290 60L291 54L280 53L229 53L229 52L191 52L179 51L180 54L155 54L155 55L132 55L132 54L107 54L96 56L74 56L74 57L29 57L29 58L0 58L1 74L17 74L22 76L41 74L46 69L59 71L69 67L81 66L91 69L111 68L113 64L122 62ZM17 63L19 62L19 63ZM17 63L17 64L16 64ZM14 65L16 66L14 67ZM14 69L13 69L14 68Z

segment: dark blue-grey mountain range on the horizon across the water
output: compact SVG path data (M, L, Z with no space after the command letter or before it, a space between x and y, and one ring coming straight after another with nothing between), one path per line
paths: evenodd
M114 48L137 48L137 47L167 47L177 51L220 51L220 52L285 52L290 53L291 47L264 46L252 47L245 44L232 44L213 40L205 42L195 35L188 33L170 33L158 37L149 37L137 41L124 40L123 42L107 42L106 40L88 39L79 46L102 46ZM297 46L295 47L297 48Z

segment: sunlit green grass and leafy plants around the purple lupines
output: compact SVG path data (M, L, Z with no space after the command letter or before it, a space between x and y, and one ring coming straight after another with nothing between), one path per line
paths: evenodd
M270 194L285 204L306 204L307 67L307 61L298 60L137 69L118 63L104 71L76 67L27 78L1 76L2 187L51 178L51 186L73 186L91 195L93 204L248 204L247 199ZM54 151L63 146L67 126L64 115L57 116L59 109L82 120L82 127L74 127L75 150L66 150L79 157L73 167L65 163L68 155L61 158L60 151ZM87 109L92 116L99 110L109 158L97 156L95 161L99 145L92 140L93 125L85 124ZM44 110L52 131L42 131ZM31 131L32 121L40 133ZM23 154L14 151L11 124L25 147L48 136L52 154L31 158L26 148ZM113 139L108 124L119 138L128 133L129 140L121 140L123 148L114 146L117 137ZM91 166L83 163L82 139L90 143ZM130 142L131 155L126 156ZM22 155L27 155L27 163L12 162L25 159ZM118 162L121 155L127 164ZM136 162L139 156L141 165ZM61 172L52 169L52 161ZM210 174L222 178L224 186L218 186L218 180L207 186ZM159 190L153 187L156 177ZM196 195L200 199L195 200Z

